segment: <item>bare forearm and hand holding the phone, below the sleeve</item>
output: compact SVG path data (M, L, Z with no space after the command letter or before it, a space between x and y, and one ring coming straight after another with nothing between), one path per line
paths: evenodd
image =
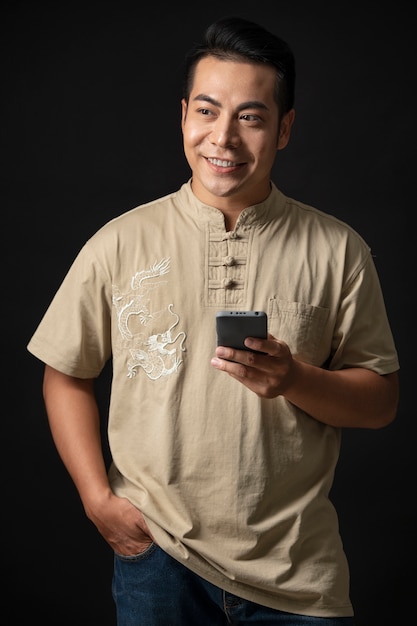
M395 419L396 372L380 376L360 367L325 370L296 360L288 345L272 335L268 340L247 338L245 344L250 350L218 346L211 364L258 396L283 396L330 426L382 428Z

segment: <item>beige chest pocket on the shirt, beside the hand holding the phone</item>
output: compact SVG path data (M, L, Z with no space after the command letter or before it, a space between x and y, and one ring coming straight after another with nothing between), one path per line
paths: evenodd
M285 341L295 357L320 366L330 354L331 343L326 337L332 333L325 332L329 315L329 309L323 307L270 298L269 332Z

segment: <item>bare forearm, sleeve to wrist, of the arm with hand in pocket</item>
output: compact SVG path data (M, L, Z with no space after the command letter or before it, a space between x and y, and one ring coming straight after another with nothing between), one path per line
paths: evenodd
M110 496L94 381L66 376L47 366L43 392L58 454L88 515L95 499Z

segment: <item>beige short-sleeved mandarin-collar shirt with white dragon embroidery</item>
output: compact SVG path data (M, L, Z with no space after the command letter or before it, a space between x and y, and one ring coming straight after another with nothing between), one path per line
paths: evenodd
M233 232L190 182L109 222L28 349L81 378L112 358L112 488L161 548L254 602L352 615L328 497L341 433L211 367L216 311L234 308L265 310L269 331L317 366L399 367L368 246L274 185Z

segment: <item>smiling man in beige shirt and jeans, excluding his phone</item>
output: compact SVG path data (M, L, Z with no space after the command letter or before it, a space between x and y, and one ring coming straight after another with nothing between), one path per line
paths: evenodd
M190 180L87 241L28 345L115 553L119 626L353 624L328 494L341 429L395 418L399 364L368 246L271 181L294 80L273 34L209 27L185 68ZM265 310L268 339L216 347L220 309Z

